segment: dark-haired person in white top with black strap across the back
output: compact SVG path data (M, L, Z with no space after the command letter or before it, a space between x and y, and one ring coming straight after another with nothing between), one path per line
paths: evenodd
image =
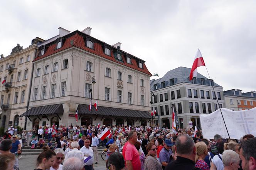
M218 147L218 151L219 154L215 155L212 158L212 163L211 163L211 170L223 170L224 166L223 166L223 162L222 162L222 153L224 152L224 141L219 142L219 147Z

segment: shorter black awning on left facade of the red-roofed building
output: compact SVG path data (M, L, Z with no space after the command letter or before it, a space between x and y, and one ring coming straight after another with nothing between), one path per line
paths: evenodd
M63 106L62 104L57 105L46 105L39 107L32 107L27 112L24 112L22 116L33 116L33 115L51 115L51 114L62 114L63 115Z

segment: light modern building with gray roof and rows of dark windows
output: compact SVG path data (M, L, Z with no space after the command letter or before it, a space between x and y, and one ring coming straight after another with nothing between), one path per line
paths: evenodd
M156 125L172 127L172 107L180 128L186 128L189 122L193 127L200 127L200 114L225 107L222 87L200 73L190 81L190 70L178 67L162 78L150 80L151 101L157 110L154 117Z

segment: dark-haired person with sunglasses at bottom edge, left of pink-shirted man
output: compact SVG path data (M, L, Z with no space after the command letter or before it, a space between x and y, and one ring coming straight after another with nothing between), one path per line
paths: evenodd
M125 170L125 160L120 153L112 153L108 158L108 170Z

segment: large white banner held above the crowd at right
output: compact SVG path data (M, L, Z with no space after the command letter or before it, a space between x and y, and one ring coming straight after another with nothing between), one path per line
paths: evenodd
M204 138L213 139L216 134L221 135L223 138L229 138L221 112L230 138L240 139L246 134L256 136L256 107L239 111L221 108L221 111L218 109L211 114L200 114Z

